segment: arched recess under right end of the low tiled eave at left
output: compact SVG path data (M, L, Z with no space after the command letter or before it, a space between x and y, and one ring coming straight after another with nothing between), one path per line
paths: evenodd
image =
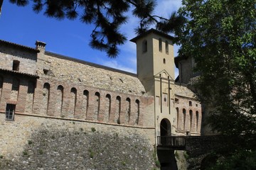
M28 91L27 91L26 105L25 105L26 113L32 113L34 92L35 92L35 83L33 81L28 81Z

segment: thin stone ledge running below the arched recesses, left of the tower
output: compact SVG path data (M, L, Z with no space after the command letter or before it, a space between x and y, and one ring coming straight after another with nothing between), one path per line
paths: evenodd
M0 113L5 114L5 111L0 111ZM119 124L115 124L115 123L104 123L104 122L93 121L93 120L81 120L81 119L76 119L76 118L60 118L60 117L55 117L55 116L50 116L50 115L36 115L36 114L28 114L28 113L20 113L20 112L15 112L15 115L26 115L26 116L33 116L33 117L38 117L38 118L50 118L50 119L58 119L58 120L73 120L73 121L77 121L77 122L97 123L97 124L103 124L103 125L114 125L114 126L122 126L122 127L126 127L126 128L155 129L154 127L119 125Z

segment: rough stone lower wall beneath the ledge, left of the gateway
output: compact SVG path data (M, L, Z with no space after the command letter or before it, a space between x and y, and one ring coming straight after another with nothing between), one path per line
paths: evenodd
M154 128L0 113L0 169L153 169ZM54 158L54 159L53 159Z

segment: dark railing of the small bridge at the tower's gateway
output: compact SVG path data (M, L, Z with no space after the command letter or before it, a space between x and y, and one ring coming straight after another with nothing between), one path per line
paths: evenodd
M186 136L158 136L157 146L183 149L186 147Z

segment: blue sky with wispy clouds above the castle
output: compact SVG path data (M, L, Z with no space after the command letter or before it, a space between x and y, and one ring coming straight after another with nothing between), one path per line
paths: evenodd
M155 13L166 17L181 6L181 0L159 0L157 3ZM0 16L0 39L28 47L35 47L36 40L40 40L46 42L49 52L136 73L136 45L129 40L136 36L134 28L138 23L131 16L121 28L128 41L119 47L119 56L110 59L105 52L93 50L88 45L93 26L81 23L78 19L58 21L43 16L43 12L34 13L31 4L18 7L4 0ZM174 46L174 50L177 51L178 47Z

